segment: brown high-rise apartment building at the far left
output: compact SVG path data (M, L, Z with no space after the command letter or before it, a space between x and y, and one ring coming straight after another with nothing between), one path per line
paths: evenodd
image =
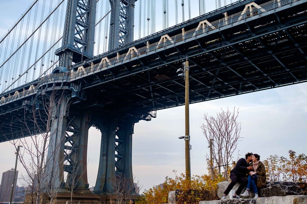
M6 172L2 173L1 189L0 189L0 202L10 202L12 184L13 184L13 179L14 179L14 170L15 169L10 169L10 170L7 170ZM15 197L15 194L16 194L17 177L18 177L18 171L16 171L16 176L15 176L16 180L15 180L15 183L14 183L12 201L14 201L14 197Z

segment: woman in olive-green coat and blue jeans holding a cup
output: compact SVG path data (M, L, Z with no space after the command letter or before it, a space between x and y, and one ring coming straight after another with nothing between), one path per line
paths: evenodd
M247 186L246 190L243 194L241 194L242 197L248 197L248 191L251 189L251 187L254 190L255 199L258 198L258 188L264 187L266 185L266 168L264 164L260 161L260 156L258 154L253 154L251 158L252 162L250 166L254 167L253 171L249 171L249 176L247 178Z

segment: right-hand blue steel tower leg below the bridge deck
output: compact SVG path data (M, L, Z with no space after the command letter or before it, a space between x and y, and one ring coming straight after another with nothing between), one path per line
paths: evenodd
M97 122L93 122L97 126ZM112 195L113 177L124 174L133 185L132 174L132 134L133 120L116 120L111 117L108 122L100 122L102 132L99 170L94 189L95 194Z

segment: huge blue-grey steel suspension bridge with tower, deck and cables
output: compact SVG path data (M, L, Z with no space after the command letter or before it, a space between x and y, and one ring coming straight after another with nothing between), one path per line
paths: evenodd
M70 183L64 172L77 172L76 194L91 194L82 172L92 126L101 132L92 195L110 195L117 174L133 183L134 124L150 121L159 109L185 104L177 70L186 60L190 103L307 80L307 0L239 0L227 6L216 0L209 13L204 0L192 0L199 8L195 18L190 0L47 3L34 0L0 40L0 142L31 136L32 107L43 109L55 90L61 93L49 119L56 122L47 159L56 155L66 163L52 160L46 169L58 174L63 188ZM160 13L163 30L156 32ZM37 121L41 129L47 118L42 114Z

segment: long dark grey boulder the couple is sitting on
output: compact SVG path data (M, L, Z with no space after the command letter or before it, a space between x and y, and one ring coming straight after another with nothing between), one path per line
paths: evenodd
M222 198L225 189L230 181L223 181L217 184L217 196ZM239 183L232 189L237 190ZM245 188L242 192L245 191ZM241 192L241 193L242 193ZM286 195L307 195L307 184L292 181L267 181L266 186L258 188L259 197L272 197L272 196L286 196ZM254 197L252 190L250 191L250 198ZM229 195L227 196L229 198Z

